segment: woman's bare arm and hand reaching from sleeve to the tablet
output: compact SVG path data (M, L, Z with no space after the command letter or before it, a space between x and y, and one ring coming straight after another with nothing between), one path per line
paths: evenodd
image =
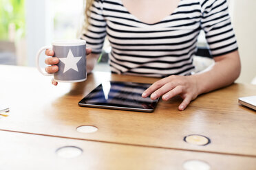
M214 58L215 64L211 68L190 76L171 75L155 82L142 94L142 97L151 95L151 99L162 96L168 100L180 95L183 101L179 110L184 110L190 101L202 93L232 84L241 71L238 51Z

